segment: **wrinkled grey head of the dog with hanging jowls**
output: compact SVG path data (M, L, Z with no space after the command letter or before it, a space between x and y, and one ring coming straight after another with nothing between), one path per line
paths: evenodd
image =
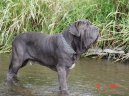
M99 29L88 20L76 21L70 26L69 32L79 38L78 48L80 51L88 49L99 37Z

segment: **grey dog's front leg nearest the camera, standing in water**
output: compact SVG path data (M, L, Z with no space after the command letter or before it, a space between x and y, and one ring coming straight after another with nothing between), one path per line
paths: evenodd
M67 87L67 80L66 80L66 68L65 66L57 65L57 72L58 72L58 79L60 85L61 94L68 95L68 87Z

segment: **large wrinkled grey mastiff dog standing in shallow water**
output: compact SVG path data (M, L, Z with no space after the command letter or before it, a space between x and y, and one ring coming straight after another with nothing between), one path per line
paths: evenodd
M15 83L18 70L28 61L36 61L58 73L59 89L68 94L67 77L75 60L97 41L99 29L88 20L78 20L64 32L46 35L22 33L12 43L12 58L7 82Z

